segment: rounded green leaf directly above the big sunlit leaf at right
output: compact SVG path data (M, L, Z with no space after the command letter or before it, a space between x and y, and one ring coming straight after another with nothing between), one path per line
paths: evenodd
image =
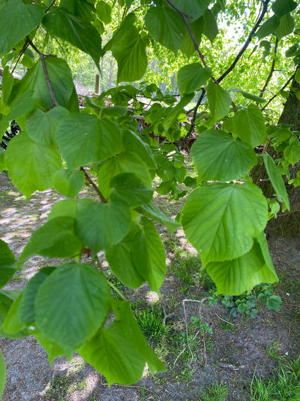
M256 153L227 132L209 129L191 147L199 180L231 181L244 177L256 164Z

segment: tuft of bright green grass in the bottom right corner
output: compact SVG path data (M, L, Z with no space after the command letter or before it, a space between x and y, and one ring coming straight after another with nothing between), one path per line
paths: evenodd
M254 373L250 385L251 401L299 401L300 356L289 364L278 361L278 367L268 379Z

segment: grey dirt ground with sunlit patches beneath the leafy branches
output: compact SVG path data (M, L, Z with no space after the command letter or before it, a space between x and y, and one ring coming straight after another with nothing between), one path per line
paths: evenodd
M60 194L48 190L33 194L28 203L8 178L0 174L0 238L8 243L16 257L34 228L46 221L49 210L59 199L63 199ZM169 208L172 209L172 204ZM164 234L162 231L162 236ZM182 231L177 231L173 240L184 241ZM212 329L208 337L203 339L198 335L195 339L193 358L186 349L177 359L184 349L179 344L173 344L173 347L156 344L157 354L167 366L165 372L154 378L145 373L135 385L108 388L104 377L78 355L70 363L61 357L49 366L45 351L33 337L1 338L0 347L7 366L2 400L201 400L204 388L216 382L228 386L227 400L250 400L249 383L253 373L268 376L276 365L267 349L276 349L287 361L300 354L300 243L278 238L269 240L269 246L280 277L280 284L274 286L275 294L282 298L279 313L263 307L254 320L242 315L233 319L220 303L208 306L206 301L196 302L205 297L203 288L192 285L188 291L182 291L180 279L170 269L161 289L161 302L167 313L172 314L167 320L169 332L184 329L184 305L186 320L200 316ZM172 257L169 251L169 263ZM6 289L23 288L40 267L49 265L48 262L42 257L30 258L25 269L8 283ZM131 301L150 301L155 294L143 285L129 292L128 297ZM184 299L191 301L183 304Z

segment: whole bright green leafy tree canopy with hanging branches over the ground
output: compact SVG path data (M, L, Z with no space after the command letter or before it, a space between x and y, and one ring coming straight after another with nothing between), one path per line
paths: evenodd
M28 200L52 187L66 196L18 261L0 240L2 287L32 255L65 258L23 291L1 289L2 337L34 335L50 362L78 351L108 383L137 381L145 364L161 371L97 257L104 250L126 286L160 291L167 266L156 222L184 228L221 294L277 281L264 230L289 210L282 175L299 185L289 173L299 127L278 124L289 93L300 98L299 32L294 0L0 1L0 129L13 120L21 130L0 168ZM108 60L117 65L116 85L83 107L73 81L81 58L102 80ZM195 133L196 178L181 151ZM271 199L253 180L258 165ZM157 176L158 194L188 194L176 221L152 202ZM85 182L97 200L78 197Z

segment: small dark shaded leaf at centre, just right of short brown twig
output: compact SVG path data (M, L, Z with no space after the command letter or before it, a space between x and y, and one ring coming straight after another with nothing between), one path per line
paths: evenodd
M151 202L152 188L145 187L143 182L133 173L116 175L110 182L114 188L110 199L112 202L125 203L129 207L138 207Z

